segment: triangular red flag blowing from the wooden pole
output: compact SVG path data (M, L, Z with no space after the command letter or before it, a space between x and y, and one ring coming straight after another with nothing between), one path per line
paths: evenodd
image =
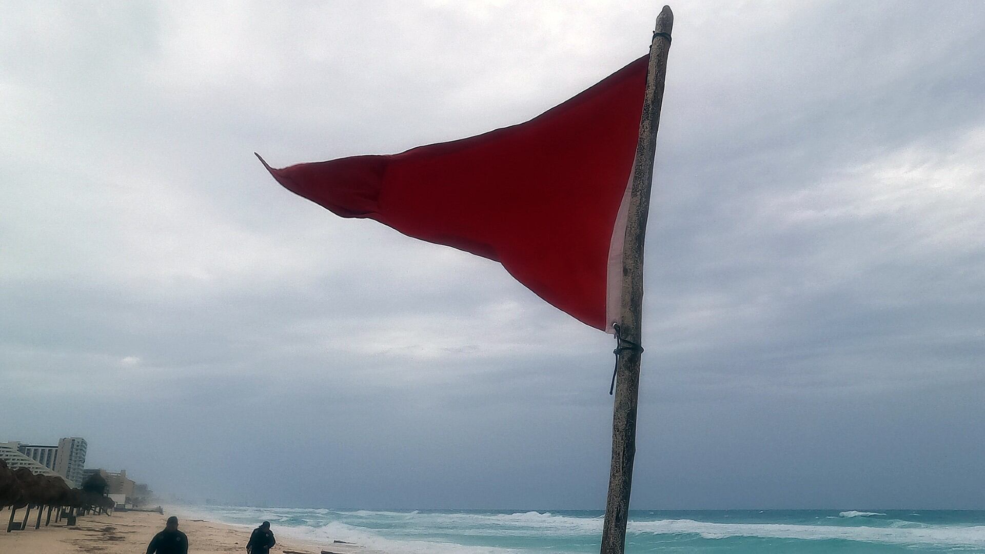
M391 156L264 166L342 217L496 260L559 310L611 332L648 59L526 123Z

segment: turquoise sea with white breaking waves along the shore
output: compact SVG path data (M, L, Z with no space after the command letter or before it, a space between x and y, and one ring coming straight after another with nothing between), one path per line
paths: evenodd
M198 507L194 515L355 542L389 554L578 554L599 551L598 511L376 512ZM633 511L627 553L985 554L985 511Z

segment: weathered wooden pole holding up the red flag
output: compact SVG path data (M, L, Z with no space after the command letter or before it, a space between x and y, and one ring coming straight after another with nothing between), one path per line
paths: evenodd
M609 497L602 528L602 554L623 554L625 523L629 516L632 459L636 453L636 401L639 395L639 362L642 357L640 323L643 312L643 240L650 209L650 183L657 146L660 105L664 100L667 53L671 46L674 13L670 6L657 16L650 43L646 96L639 120L639 141L633 162L632 188L623 247L622 320L619 322L620 356L616 369L613 405L613 459L609 471ZM628 347L626 347L626 345Z

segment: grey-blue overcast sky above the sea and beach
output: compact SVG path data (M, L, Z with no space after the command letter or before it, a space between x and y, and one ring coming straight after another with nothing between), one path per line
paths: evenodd
M985 509L985 4L681 2L635 508ZM192 500L602 508L615 346L275 166L528 119L648 2L0 2L0 441Z

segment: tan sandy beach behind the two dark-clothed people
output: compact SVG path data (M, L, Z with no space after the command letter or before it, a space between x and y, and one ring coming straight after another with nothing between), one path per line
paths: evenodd
M134 554L144 552L151 538L164 528L164 516L153 512L117 512L111 516L79 518L76 526L64 521L47 527L33 526L24 531L0 532L0 552L3 554ZM0 512L4 522L9 510ZM188 535L189 553L244 552L250 529L244 526L216 523L203 519L180 519L180 528ZM258 521L259 523L259 521ZM6 530L6 525L4 526ZM314 544L296 540L274 528L277 546L271 552L305 554L368 554L367 549L351 544Z

